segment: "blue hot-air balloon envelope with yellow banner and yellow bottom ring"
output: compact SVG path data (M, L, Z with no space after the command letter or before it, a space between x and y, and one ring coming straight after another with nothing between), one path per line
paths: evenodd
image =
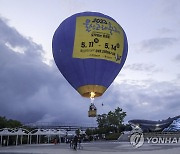
M83 12L65 19L54 33L53 56L66 80L82 96L101 96L124 65L128 43L111 17Z

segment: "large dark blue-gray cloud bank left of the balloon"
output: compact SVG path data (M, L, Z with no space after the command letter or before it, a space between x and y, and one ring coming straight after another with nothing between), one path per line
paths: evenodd
M56 66L42 62L40 45L1 19L0 34L0 115L25 122L46 121L47 117L54 121L82 121L83 114L87 119L84 109L89 100L83 103ZM23 47L24 53L14 52L16 47Z

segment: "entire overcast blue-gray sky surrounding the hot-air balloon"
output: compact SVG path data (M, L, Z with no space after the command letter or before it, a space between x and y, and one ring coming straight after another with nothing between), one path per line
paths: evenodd
M94 123L90 100L58 71L52 37L67 17L101 12L125 30L125 65L98 113L117 107L130 119L180 115L179 0L0 0L0 116L22 122ZM104 106L101 106L101 104Z

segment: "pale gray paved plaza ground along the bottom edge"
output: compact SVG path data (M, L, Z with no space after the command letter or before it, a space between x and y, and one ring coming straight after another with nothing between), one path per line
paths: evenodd
M179 144L147 144L134 148L128 142L83 143L83 149L73 150L68 144L33 144L0 147L0 154L180 154Z

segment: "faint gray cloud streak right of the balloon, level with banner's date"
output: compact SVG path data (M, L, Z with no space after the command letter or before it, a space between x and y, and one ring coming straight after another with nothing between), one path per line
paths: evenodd
M178 39L171 37L152 38L149 40L144 40L141 43L141 51L157 52L159 50L165 49L166 47L172 46L177 41Z

